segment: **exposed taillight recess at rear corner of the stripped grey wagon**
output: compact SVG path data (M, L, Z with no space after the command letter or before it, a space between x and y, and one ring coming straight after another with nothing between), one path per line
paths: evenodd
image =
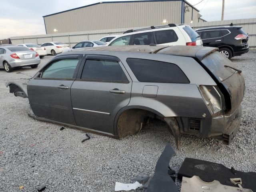
M200 85L199 90L211 114L222 114L224 96L217 86Z

